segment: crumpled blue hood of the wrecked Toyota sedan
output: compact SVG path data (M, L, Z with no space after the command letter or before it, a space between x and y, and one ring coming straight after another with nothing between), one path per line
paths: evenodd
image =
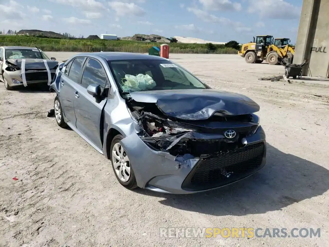
M247 96L216 89L179 89L131 92L137 102L155 103L166 115L184 120L205 120L214 113L243 115L258 112Z

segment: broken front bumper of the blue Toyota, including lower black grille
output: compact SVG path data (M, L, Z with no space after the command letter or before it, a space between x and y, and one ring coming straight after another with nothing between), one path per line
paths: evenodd
M207 139L207 135L204 135ZM121 140L140 188L190 194L219 188L249 177L266 164L266 138L261 126L247 136L243 148L216 157L184 155L179 158L148 147L137 134Z

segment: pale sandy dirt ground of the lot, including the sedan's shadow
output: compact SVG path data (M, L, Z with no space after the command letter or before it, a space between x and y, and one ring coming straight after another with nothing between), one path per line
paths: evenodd
M48 54L63 60L73 53ZM329 82L260 81L284 68L246 64L237 55L171 59L211 87L261 106L265 168L207 193L129 191L109 160L46 117L53 93L0 85L0 246L329 246ZM312 238L160 237L159 228L172 227L321 232Z

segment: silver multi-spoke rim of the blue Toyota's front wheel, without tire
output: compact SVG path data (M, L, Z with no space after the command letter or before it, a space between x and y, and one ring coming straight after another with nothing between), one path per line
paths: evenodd
M115 143L112 149L112 163L117 177L127 182L131 174L131 166L128 155L120 143Z

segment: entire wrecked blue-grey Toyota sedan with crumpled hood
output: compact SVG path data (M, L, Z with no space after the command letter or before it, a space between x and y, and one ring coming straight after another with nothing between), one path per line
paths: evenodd
M124 187L174 194L215 189L266 163L250 98L211 89L158 56L81 53L57 69L57 124L111 159Z

